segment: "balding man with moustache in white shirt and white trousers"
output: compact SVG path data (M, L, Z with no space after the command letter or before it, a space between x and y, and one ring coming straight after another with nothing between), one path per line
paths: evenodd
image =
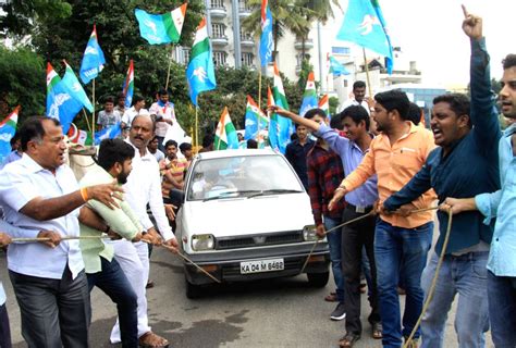
M158 229L163 237L163 244L176 251L177 240L169 225L163 199L161 198L161 179L158 161L147 150L147 145L153 137L155 125L150 116L138 115L131 124L127 142L135 148L133 171L124 185L125 199L139 219L140 224L155 245L161 244L152 222L147 214L147 203L156 220ZM144 347L167 347L169 341L152 333L148 325L147 298L145 286L149 277L148 246L143 241L113 241L114 258L124 270L133 289L138 297L138 337ZM120 328L116 323L111 331L111 343L120 343Z

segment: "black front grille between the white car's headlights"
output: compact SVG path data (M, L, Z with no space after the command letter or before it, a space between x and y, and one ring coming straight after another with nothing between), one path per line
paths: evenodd
M302 231L288 231L279 234L262 234L254 236L235 236L217 238L217 250L238 249L250 247L273 246L303 241Z

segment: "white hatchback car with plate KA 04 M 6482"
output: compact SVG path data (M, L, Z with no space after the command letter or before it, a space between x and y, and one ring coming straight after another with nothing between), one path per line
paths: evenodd
M293 276L317 240L310 199L286 159L272 150L225 150L195 157L176 217L184 254L221 282ZM304 272L314 286L329 278L327 239ZM214 283L184 263L186 296Z

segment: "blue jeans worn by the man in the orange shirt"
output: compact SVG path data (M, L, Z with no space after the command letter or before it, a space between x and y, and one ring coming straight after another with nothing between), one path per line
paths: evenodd
M374 233L374 260L383 324L383 347L402 347L402 337L410 335L421 313L423 297L421 273L432 243L432 233L433 222L416 228L403 228L378 219ZM400 273L404 274L407 293L403 331L397 295ZM415 337L419 337L419 330Z

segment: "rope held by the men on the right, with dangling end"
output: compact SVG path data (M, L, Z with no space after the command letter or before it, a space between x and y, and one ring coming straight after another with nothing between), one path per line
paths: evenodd
M415 209L415 210L411 210L409 211L409 214L417 214L417 213L421 213L421 212L426 212L426 211L430 211L430 210L438 210L440 209L440 206L437 206L437 207L429 207L429 208L422 208L422 209ZM441 271L441 265L444 261L444 256L446 254L446 249L447 249L447 243L450 240L450 233L452 231L452 221L453 221L453 212L451 209L447 209L446 210L447 212L447 215L449 215L449 220L447 220L447 226L446 226L446 233L444 235L444 240L443 240L443 247L442 247L442 250L441 250L441 254L439 256L439 261L438 261L438 265L435 266L435 273L433 275L433 278L432 278L432 283L430 285L430 288L428 290L428 296L427 296L427 299L425 300L425 303L422 306L422 309L421 309L421 314L419 315L417 322L416 322L416 325L414 326L410 335L408 336L408 338L406 339L403 348L408 348L410 346L410 343L414 338L414 335L416 334L419 325L421 324L421 320L422 320L422 316L425 315L425 313L427 312L428 310L428 307L430 306L430 302L432 301L432 298L433 298L433 294L435 293L435 286L438 284L438 278L439 278L439 272ZM346 225L349 225L349 224L353 224L357 221L360 221L363 219L366 219L366 217L369 217L371 215L374 215L376 214L376 211L374 209L371 210L370 212L368 212L367 214L364 214L361 216L358 216L356 219L353 219L353 220L349 220L349 221L346 221L337 226L334 226L328 231L324 232L324 236L328 235L329 233L333 232L333 231L336 231L341 227L344 227ZM306 265L308 264L308 260L310 259L311 254L314 253L314 250L316 249L317 245L319 244L320 240L322 240L323 237L321 238L318 238L316 240L316 243L314 243L314 247L311 248L310 252L308 253L306 260L305 260L305 263L303 264L303 268L300 270L299 273L303 273L305 271L305 268Z

